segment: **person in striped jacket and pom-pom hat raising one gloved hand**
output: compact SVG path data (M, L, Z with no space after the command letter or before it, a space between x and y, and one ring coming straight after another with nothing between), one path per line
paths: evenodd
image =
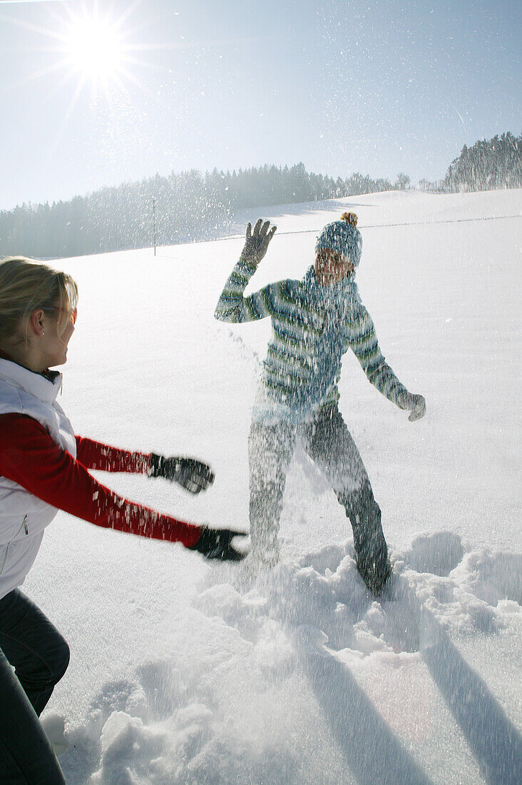
M275 564L287 469L296 439L322 469L352 523L356 564L378 596L391 567L381 510L356 444L338 409L341 357L352 349L368 380L410 420L425 413L425 400L399 382L381 354L374 323L354 280L362 239L357 217L345 213L323 228L315 264L304 279L270 283L243 293L276 232L257 221L217 302L216 319L272 319L272 338L254 403L249 436L252 557Z

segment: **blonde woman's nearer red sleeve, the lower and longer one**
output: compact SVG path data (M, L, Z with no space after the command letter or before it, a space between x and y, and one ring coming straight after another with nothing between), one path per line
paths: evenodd
M53 507L97 526L182 542L187 547L195 545L201 534L199 526L130 502L97 482L31 417L0 416L0 475Z

